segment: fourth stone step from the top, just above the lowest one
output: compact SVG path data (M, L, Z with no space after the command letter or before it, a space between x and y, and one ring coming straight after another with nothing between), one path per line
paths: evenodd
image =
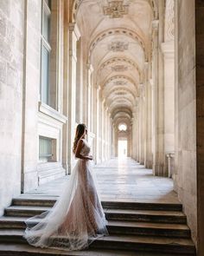
M26 243L22 235L23 230L0 230L0 243ZM195 255L195 247L192 240L158 238L156 236L110 235L93 241L90 248L116 249L123 250L124 252L134 251L135 253L173 253L173 255L180 253L185 256Z

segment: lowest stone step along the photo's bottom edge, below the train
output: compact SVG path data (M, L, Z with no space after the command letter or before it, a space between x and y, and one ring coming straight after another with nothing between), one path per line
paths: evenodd
M89 249L77 252L67 252L65 250L39 248L24 244L0 244L0 255L3 256L167 256L166 253L139 253L135 251L118 251L118 250L105 250L104 249ZM194 255L194 254L188 254ZM175 256L175 253L168 253L168 256ZM176 256L183 256L183 254L176 254Z

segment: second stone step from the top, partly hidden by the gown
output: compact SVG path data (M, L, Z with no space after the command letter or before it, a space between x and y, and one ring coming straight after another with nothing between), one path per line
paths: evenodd
M44 211L48 211L49 209L50 207L11 206L5 209L5 215L32 217L41 214ZM178 211L105 209L105 216L107 220L134 220L177 224L187 223L186 216Z

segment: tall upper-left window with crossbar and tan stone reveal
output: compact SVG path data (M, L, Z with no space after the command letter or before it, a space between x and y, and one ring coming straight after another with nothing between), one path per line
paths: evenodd
M57 108L57 1L42 0L41 102Z

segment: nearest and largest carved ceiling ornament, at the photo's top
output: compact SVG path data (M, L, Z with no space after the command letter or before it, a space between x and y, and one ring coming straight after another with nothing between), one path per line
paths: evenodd
M108 3L108 6L104 6L104 15L110 18L122 18L128 14L128 5L124 5L123 0L112 1Z

